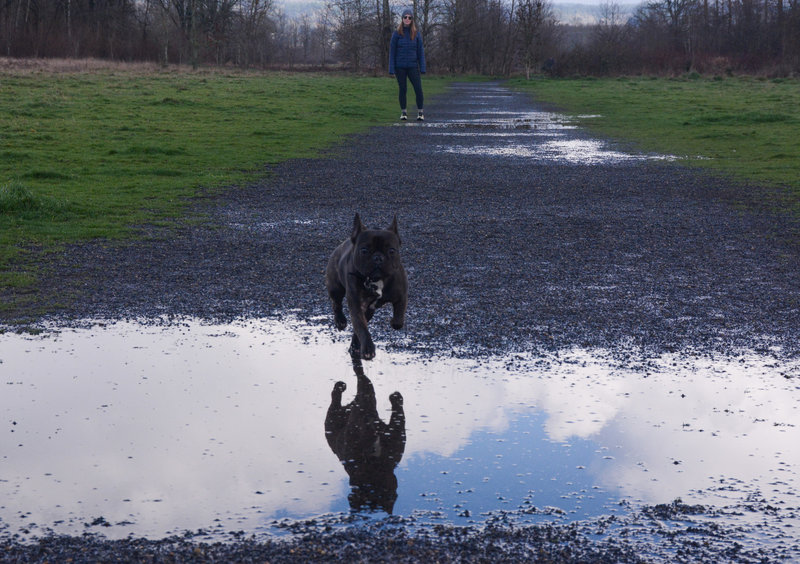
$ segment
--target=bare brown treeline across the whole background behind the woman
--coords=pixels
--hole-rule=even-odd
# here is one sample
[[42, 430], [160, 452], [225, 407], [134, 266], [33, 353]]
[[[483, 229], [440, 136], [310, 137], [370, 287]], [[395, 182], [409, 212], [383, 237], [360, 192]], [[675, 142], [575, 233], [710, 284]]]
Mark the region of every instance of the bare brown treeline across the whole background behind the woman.
[[[402, 0], [328, 0], [288, 17], [274, 0], [0, 0], [10, 57], [97, 57], [383, 72]], [[510, 75], [800, 71], [800, 0], [653, 0], [591, 25], [547, 0], [414, 0], [428, 68]]]

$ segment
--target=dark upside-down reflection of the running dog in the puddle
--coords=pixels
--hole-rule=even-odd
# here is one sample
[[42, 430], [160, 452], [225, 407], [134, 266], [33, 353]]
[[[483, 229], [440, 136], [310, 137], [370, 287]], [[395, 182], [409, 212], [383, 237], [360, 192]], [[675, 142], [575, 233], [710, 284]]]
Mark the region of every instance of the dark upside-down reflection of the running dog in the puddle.
[[356, 397], [342, 405], [347, 385], [334, 384], [325, 417], [325, 438], [350, 476], [350, 508], [392, 513], [397, 499], [394, 469], [406, 447], [403, 396], [400, 392], [389, 396], [392, 415], [389, 423], [384, 423], [378, 417], [375, 389], [360, 360], [353, 360], [353, 370], [358, 378]]

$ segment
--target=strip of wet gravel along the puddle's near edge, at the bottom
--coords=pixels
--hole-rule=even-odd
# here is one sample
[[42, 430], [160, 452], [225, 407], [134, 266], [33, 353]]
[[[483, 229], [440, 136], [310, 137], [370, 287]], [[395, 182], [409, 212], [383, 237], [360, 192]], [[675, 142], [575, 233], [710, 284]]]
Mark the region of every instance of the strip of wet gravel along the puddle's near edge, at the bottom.
[[108, 540], [50, 535], [20, 543], [0, 538], [3, 562], [541, 562], [647, 563], [796, 561], [797, 542], [753, 546], [741, 529], [729, 531], [692, 519], [701, 506], [673, 502], [646, 508], [636, 517], [592, 523], [524, 527], [492, 523], [476, 529], [388, 518], [346, 528], [301, 522], [289, 538], [257, 539], [234, 533], [227, 541], [186, 533], [158, 540]]

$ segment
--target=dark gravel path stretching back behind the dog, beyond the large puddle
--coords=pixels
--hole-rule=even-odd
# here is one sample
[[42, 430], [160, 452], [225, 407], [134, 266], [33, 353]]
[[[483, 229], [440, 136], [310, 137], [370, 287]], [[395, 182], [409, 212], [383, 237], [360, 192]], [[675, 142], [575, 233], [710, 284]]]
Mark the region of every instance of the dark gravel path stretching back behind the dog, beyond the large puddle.
[[353, 214], [396, 213], [411, 298], [403, 335], [376, 318], [384, 346], [797, 354], [800, 222], [752, 187], [592, 139], [495, 83], [426, 109], [200, 200], [199, 227], [72, 247], [43, 295], [71, 300], [62, 319], [328, 316], [322, 270]]

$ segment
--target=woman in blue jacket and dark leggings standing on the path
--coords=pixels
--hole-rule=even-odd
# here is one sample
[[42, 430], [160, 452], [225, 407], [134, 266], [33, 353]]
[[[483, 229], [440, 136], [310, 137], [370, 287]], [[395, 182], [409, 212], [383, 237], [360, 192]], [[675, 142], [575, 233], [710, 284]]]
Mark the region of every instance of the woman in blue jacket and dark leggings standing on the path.
[[402, 111], [400, 119], [403, 121], [408, 119], [406, 79], [411, 81], [417, 97], [417, 121], [425, 119], [422, 113], [423, 97], [420, 74], [425, 74], [425, 50], [422, 47], [422, 34], [417, 31], [413, 13], [406, 8], [403, 10], [400, 25], [392, 33], [392, 41], [389, 45], [389, 75], [397, 76], [397, 84], [400, 87], [400, 110]]

